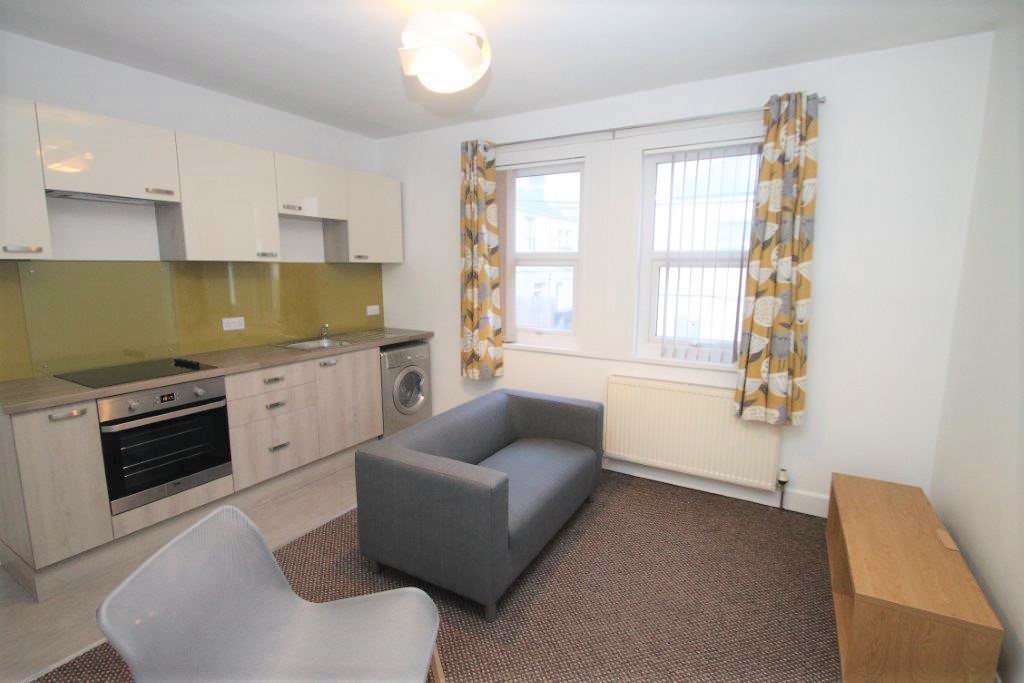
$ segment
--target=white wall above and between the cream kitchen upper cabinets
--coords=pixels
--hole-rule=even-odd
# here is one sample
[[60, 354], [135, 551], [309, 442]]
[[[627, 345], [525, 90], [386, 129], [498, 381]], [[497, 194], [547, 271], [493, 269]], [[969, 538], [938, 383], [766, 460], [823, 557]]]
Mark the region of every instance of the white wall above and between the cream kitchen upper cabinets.
[[[0, 93], [377, 170], [373, 138], [4, 31]], [[57, 258], [160, 259], [153, 207], [48, 203]], [[308, 224], [283, 217], [288, 260], [323, 258], [323, 245], [303, 239]]]

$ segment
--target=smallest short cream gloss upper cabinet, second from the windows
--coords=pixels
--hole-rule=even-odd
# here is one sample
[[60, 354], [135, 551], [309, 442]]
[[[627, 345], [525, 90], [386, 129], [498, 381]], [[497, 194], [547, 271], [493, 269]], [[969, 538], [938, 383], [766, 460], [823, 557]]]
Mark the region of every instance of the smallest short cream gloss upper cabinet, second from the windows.
[[274, 154], [278, 213], [309, 218], [348, 218], [345, 169]]

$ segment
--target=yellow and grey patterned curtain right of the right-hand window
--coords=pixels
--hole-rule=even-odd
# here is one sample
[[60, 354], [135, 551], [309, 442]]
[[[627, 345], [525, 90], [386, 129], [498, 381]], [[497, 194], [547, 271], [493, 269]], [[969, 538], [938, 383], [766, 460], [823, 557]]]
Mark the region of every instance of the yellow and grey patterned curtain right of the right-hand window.
[[816, 94], [768, 101], [735, 395], [744, 420], [804, 421], [817, 141]]

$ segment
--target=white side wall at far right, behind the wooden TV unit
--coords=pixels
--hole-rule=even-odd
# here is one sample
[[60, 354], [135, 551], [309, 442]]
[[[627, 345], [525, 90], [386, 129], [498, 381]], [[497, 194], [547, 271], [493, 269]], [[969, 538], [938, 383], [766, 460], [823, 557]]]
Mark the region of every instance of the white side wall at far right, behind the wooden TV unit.
[[932, 501], [1007, 629], [1007, 683], [1024, 681], [1022, 7], [995, 32], [932, 482]]

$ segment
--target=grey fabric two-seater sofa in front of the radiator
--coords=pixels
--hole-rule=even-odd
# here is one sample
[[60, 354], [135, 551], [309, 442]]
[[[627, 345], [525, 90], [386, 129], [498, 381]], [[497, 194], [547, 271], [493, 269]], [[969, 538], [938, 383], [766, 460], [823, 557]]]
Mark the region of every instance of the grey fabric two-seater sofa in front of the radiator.
[[355, 454], [359, 548], [479, 602], [498, 599], [590, 497], [601, 403], [500, 390]]

